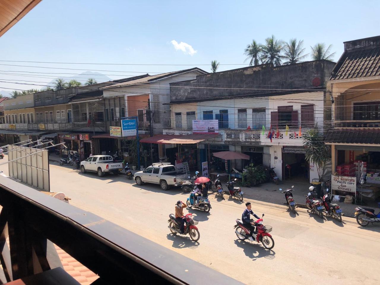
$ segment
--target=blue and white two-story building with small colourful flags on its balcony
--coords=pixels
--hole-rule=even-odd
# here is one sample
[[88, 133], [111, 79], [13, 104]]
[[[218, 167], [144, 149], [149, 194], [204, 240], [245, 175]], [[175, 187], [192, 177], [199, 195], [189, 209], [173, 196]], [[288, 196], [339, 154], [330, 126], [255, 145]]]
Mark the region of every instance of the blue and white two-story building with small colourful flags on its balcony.
[[[317, 171], [305, 161], [302, 133], [315, 124], [323, 130], [325, 86], [333, 67], [327, 60], [266, 64], [170, 84], [171, 129], [164, 133], [192, 133], [193, 119], [217, 120], [221, 140], [198, 144], [200, 162], [212, 152], [231, 150], [250, 157], [234, 161], [237, 169], [274, 165], [281, 179], [312, 180]], [[211, 168], [224, 168], [224, 161], [212, 161]]]

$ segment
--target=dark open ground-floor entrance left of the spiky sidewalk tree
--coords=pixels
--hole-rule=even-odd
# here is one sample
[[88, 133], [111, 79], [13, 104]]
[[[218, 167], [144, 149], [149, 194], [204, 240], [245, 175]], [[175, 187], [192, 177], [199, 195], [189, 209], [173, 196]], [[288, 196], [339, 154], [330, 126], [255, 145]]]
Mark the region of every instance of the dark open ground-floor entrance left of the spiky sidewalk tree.
[[283, 179], [295, 182], [309, 182], [309, 163], [305, 159], [303, 147], [283, 147]]

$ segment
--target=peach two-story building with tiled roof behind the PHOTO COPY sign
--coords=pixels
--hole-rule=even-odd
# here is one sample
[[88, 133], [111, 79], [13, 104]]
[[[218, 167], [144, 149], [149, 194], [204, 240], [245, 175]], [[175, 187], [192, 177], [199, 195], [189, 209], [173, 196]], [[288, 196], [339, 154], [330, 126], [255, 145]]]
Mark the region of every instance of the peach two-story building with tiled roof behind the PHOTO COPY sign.
[[[359, 183], [364, 177], [367, 184], [380, 184], [379, 59], [380, 36], [346, 41], [332, 70], [328, 82], [331, 94], [326, 97], [326, 106], [331, 106], [331, 128], [326, 130], [326, 141], [331, 145], [334, 179], [356, 177]], [[380, 190], [374, 189], [367, 188], [363, 196], [377, 198]], [[346, 190], [338, 192], [350, 194], [353, 188]]]

